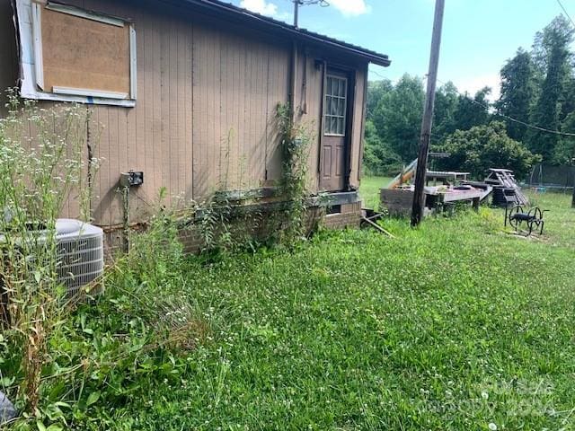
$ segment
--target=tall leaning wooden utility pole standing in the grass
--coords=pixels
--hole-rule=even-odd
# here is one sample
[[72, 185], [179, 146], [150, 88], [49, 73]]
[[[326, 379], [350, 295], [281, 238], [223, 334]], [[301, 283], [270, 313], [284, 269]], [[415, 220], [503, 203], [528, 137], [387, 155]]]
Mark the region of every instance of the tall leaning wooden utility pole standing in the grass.
[[425, 207], [425, 175], [427, 172], [429, 137], [431, 136], [431, 122], [435, 105], [435, 88], [438, 81], [439, 47], [441, 46], [441, 28], [443, 27], [443, 11], [445, 0], [436, 0], [435, 17], [433, 19], [433, 35], [431, 37], [431, 54], [429, 56], [428, 88], [421, 121], [420, 153], [417, 159], [415, 172], [415, 192], [413, 193], [413, 206], [411, 207], [411, 226], [420, 224]]

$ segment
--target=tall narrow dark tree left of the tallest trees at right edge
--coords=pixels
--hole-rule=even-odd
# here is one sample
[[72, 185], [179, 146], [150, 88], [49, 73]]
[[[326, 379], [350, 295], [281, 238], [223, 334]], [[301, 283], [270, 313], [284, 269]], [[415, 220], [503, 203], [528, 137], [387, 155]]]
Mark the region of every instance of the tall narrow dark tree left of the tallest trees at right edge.
[[[515, 57], [501, 68], [501, 95], [495, 106], [502, 115], [529, 122], [535, 103], [535, 66], [531, 54], [517, 49]], [[527, 128], [515, 121], [507, 121], [509, 137], [524, 142]]]

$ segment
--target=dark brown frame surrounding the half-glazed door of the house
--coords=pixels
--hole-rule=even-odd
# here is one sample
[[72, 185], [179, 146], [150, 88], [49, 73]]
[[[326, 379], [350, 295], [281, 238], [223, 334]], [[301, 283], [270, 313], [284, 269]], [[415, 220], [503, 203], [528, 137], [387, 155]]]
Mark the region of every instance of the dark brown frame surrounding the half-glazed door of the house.
[[348, 95], [346, 101], [346, 119], [345, 119], [345, 140], [344, 140], [344, 177], [343, 177], [343, 189], [338, 191], [348, 191], [349, 190], [349, 177], [351, 174], [351, 144], [352, 133], [353, 133], [353, 119], [355, 116], [355, 96], [356, 96], [356, 73], [355, 67], [343, 66], [337, 63], [328, 62], [323, 60], [323, 86], [322, 86], [322, 118], [320, 120], [320, 136], [319, 136], [319, 157], [317, 172], [319, 174], [318, 178], [318, 189], [321, 189], [322, 174], [323, 174], [323, 136], [325, 128], [325, 94], [327, 92], [327, 76], [344, 75], [348, 80]]

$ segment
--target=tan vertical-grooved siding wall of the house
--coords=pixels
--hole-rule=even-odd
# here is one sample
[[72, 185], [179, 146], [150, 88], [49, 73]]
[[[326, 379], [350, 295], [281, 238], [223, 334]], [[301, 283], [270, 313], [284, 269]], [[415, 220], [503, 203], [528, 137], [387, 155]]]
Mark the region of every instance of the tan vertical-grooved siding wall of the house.
[[[12, 10], [9, 2], [0, 3], [0, 87], [4, 89], [15, 82], [17, 56], [15, 43], [10, 43], [14, 40]], [[132, 223], [146, 219], [163, 187], [171, 196], [199, 201], [217, 189], [256, 189], [279, 180], [275, 115], [278, 103], [289, 100], [290, 40], [150, 0], [66, 3], [133, 20], [137, 33], [136, 107], [90, 107], [95, 153], [103, 159], [94, 181], [96, 224], [122, 223], [120, 172], [144, 172], [144, 184], [130, 191]], [[317, 48], [299, 47], [297, 57], [296, 119], [304, 121], [314, 136], [309, 156], [311, 192], [318, 191], [320, 178], [323, 70], [315, 58], [322, 55]], [[12, 72], [4, 66], [5, 60], [13, 65]], [[357, 187], [367, 64], [352, 66], [356, 106], [349, 183]], [[66, 208], [64, 216], [77, 216], [74, 202]]]

